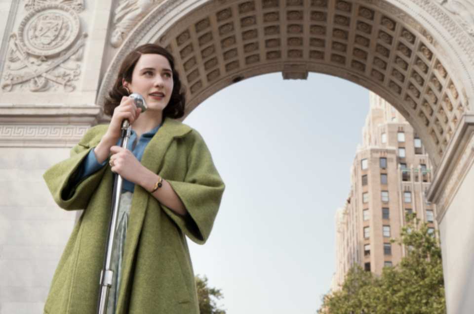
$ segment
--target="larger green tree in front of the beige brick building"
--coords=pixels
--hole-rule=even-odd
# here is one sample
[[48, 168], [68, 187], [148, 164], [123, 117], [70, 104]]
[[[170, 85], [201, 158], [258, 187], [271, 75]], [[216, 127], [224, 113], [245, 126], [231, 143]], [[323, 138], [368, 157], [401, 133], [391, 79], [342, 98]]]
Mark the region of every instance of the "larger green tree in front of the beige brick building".
[[441, 248], [428, 224], [407, 215], [398, 242], [407, 256], [380, 277], [360, 265], [349, 269], [341, 289], [322, 297], [318, 314], [446, 314]]

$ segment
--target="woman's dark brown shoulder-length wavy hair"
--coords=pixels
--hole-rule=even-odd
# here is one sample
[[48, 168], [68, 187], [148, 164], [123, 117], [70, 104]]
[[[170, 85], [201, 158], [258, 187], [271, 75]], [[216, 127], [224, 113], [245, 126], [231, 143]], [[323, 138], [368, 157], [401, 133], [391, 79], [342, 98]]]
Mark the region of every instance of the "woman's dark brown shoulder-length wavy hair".
[[122, 97], [130, 94], [128, 89], [122, 85], [122, 79], [128, 83], [132, 82], [133, 69], [135, 69], [135, 65], [142, 54], [160, 54], [168, 59], [171, 71], [173, 72], [173, 91], [171, 92], [168, 105], [163, 109], [163, 118], [181, 118], [184, 115], [184, 106], [186, 104], [186, 88], [179, 80], [179, 74], [174, 67], [174, 58], [171, 53], [155, 44], [138, 46], [123, 59], [118, 71], [117, 80], [115, 80], [112, 90], [109, 91], [109, 97], [106, 97], [104, 101], [105, 114], [112, 117], [114, 109], [120, 104]]

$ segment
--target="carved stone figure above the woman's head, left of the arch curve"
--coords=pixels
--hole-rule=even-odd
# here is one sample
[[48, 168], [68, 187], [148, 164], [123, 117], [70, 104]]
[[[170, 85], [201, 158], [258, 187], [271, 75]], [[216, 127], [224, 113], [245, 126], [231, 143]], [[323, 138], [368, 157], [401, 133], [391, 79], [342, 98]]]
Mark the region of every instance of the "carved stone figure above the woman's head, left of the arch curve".
[[130, 30], [162, 0], [123, 0], [115, 10], [114, 32], [110, 43], [114, 47], [122, 44]]

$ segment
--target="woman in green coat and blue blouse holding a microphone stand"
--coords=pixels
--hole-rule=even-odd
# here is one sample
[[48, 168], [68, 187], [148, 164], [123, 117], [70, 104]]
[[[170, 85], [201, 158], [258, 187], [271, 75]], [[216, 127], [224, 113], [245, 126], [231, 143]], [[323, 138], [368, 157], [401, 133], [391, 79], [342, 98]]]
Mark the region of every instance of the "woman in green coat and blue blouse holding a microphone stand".
[[[141, 94], [141, 112], [127, 95]], [[56, 203], [84, 209], [54, 274], [44, 313], [96, 312], [114, 174], [124, 178], [114, 252], [117, 291], [107, 314], [198, 314], [185, 235], [204, 243], [224, 183], [211, 155], [184, 114], [184, 92], [171, 54], [142, 45], [122, 62], [104, 110], [109, 126], [91, 128], [71, 158], [44, 179]], [[117, 146], [123, 119], [131, 123], [130, 150]]]

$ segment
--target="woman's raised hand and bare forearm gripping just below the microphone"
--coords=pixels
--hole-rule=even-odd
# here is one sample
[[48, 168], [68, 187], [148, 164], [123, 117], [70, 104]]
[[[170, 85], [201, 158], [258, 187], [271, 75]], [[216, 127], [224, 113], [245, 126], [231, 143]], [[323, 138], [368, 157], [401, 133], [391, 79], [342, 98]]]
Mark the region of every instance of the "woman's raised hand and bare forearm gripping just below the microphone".
[[107, 130], [107, 133], [94, 148], [95, 158], [100, 164], [109, 157], [109, 153], [111, 152], [110, 148], [117, 145], [117, 142], [120, 139], [122, 121], [128, 119], [129, 123], [133, 124], [133, 122], [140, 116], [141, 112], [142, 109], [137, 109], [132, 98], [126, 96], [122, 97], [120, 104], [114, 109], [109, 130]]

